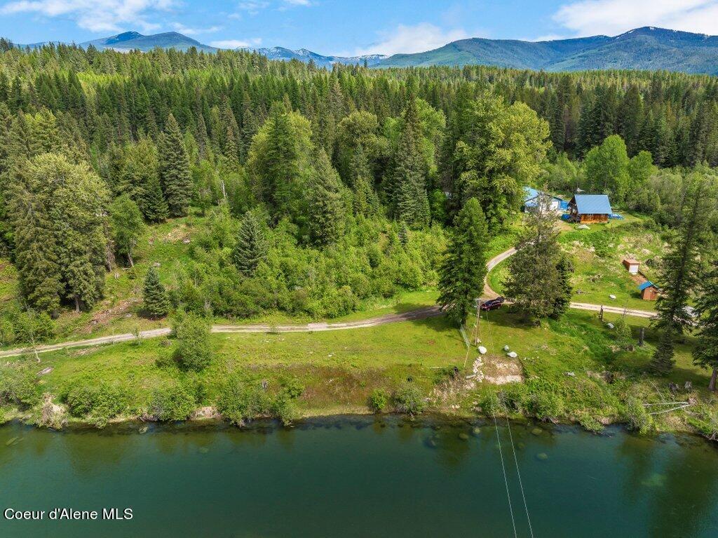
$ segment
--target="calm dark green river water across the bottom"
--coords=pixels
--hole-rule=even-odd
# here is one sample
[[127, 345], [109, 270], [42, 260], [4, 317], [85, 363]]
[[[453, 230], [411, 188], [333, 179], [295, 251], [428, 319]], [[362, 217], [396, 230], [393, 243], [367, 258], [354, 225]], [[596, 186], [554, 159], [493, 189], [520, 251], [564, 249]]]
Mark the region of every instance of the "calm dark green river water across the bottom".
[[[401, 425], [401, 426], [400, 426]], [[545, 427], [544, 427], [545, 428]], [[0, 427], [0, 537], [512, 537], [492, 425], [336, 419], [293, 430]], [[718, 450], [692, 437], [512, 425], [536, 537], [718, 537]], [[500, 428], [519, 537], [528, 524]], [[17, 437], [10, 445], [7, 442]]]

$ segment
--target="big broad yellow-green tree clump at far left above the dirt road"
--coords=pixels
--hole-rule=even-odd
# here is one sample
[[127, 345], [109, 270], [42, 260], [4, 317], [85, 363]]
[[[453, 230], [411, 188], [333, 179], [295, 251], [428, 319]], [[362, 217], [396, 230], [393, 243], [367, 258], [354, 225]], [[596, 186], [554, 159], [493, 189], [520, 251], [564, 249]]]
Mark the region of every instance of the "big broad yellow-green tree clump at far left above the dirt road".
[[104, 182], [60, 154], [27, 161], [14, 177], [11, 208], [21, 287], [39, 310], [60, 300], [91, 308], [102, 294], [107, 238]]

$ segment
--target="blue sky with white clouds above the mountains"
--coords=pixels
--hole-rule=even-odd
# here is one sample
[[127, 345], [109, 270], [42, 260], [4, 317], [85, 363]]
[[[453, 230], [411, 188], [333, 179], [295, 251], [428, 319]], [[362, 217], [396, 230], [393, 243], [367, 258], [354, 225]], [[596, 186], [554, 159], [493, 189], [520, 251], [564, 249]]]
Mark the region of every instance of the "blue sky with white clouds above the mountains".
[[19, 44], [175, 31], [215, 47], [391, 55], [642, 26], [718, 34], [718, 0], [0, 0], [0, 36]]

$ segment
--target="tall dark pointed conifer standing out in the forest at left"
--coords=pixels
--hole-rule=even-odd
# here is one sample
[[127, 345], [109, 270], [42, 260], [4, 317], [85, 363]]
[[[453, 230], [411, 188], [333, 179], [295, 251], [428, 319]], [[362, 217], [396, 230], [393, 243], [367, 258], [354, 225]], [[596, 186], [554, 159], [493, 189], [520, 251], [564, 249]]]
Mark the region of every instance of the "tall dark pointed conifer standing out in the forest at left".
[[190, 159], [177, 120], [170, 113], [159, 144], [159, 182], [167, 200], [169, 214], [180, 217], [187, 214], [192, 200]]

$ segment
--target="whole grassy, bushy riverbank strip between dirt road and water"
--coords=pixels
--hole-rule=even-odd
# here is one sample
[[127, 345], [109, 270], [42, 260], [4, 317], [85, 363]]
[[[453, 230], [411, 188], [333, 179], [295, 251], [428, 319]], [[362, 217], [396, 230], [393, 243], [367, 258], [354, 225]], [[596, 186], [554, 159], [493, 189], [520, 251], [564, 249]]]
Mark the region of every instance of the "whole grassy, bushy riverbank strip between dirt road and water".
[[[350, 331], [211, 335], [204, 320], [185, 316], [166, 340], [0, 363], [0, 422], [60, 428], [223, 419], [245, 426], [265, 418], [290, 424], [335, 414], [439, 414], [528, 417], [594, 432], [622, 423], [715, 440], [718, 404], [705, 388], [707, 373], [691, 364], [690, 340], [678, 349], [674, 374], [648, 376], [653, 330], [645, 330], [643, 348], [631, 349], [605, 323], [571, 312], [527, 327], [497, 312], [484, 325], [492, 335], [480, 355], [473, 347], [467, 353], [441, 317]], [[503, 351], [507, 342], [516, 358]]]

